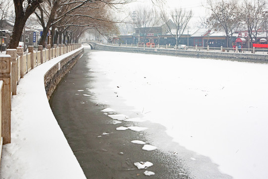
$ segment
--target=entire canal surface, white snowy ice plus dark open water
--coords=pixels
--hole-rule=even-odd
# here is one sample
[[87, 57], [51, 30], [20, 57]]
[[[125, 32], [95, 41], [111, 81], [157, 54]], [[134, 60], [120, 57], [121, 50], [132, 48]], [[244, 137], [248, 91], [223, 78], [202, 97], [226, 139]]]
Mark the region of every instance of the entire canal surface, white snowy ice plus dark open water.
[[[113, 140], [124, 140], [115, 146], [120, 150], [106, 156], [113, 160], [105, 163], [99, 159], [96, 173], [101, 173], [104, 163], [120, 163], [124, 170], [112, 169], [115, 178], [147, 178], [145, 174], [165, 179], [268, 176], [267, 65], [90, 50], [80, 61], [65, 77], [51, 104], [62, 128], [76, 126], [77, 121], [85, 127], [80, 114], [93, 120], [93, 128], [100, 128], [78, 136], [76, 129], [63, 129], [76, 157], [85, 158], [79, 151], [88, 146], [96, 146], [92, 149], [95, 157], [105, 155]], [[60, 95], [64, 95], [61, 100], [65, 98], [65, 104], [57, 103]], [[56, 107], [60, 105], [61, 109]], [[77, 108], [83, 111], [72, 116]], [[71, 111], [64, 114], [64, 109]], [[76, 121], [66, 121], [70, 116]], [[84, 140], [87, 147], [74, 149], [73, 138]], [[106, 148], [98, 148], [105, 142]], [[92, 156], [87, 159], [88, 163], [92, 160]], [[141, 161], [148, 163], [138, 163]], [[79, 163], [85, 172], [85, 162]], [[138, 169], [144, 166], [148, 169]], [[90, 166], [87, 170], [94, 173]]]

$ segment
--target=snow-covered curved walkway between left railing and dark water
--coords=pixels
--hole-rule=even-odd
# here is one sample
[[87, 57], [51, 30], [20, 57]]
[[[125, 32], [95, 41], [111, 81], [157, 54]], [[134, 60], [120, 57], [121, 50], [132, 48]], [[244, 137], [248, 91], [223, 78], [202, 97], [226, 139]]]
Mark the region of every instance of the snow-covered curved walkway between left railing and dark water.
[[11, 144], [3, 146], [0, 179], [85, 179], [48, 102], [44, 75], [63, 58], [31, 70], [12, 96]]

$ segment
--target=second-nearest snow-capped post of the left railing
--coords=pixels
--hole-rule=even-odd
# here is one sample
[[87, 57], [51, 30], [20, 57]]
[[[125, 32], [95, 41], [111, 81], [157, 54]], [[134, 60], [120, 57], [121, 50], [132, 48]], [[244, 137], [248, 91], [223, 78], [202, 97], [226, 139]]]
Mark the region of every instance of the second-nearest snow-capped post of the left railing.
[[17, 63], [17, 50], [16, 49], [7, 49], [6, 55], [11, 57], [11, 91], [12, 95], [17, 93], [17, 78], [18, 78], [18, 63]]

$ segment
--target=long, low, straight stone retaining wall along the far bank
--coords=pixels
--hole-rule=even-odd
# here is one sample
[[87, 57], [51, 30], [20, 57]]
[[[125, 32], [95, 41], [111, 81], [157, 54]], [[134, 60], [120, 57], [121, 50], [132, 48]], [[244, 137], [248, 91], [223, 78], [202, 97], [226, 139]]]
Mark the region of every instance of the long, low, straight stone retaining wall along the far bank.
[[254, 63], [268, 63], [268, 55], [262, 55], [262, 54], [120, 47], [120, 46], [109, 46], [103, 44], [96, 44], [95, 48], [97, 50], [108, 50], [108, 51], [119, 51], [119, 52], [133, 52], [133, 53], [146, 53], [146, 54], [158, 54], [158, 55], [184, 56], [194, 58], [213, 58], [213, 59], [224, 59], [224, 60], [254, 62]]

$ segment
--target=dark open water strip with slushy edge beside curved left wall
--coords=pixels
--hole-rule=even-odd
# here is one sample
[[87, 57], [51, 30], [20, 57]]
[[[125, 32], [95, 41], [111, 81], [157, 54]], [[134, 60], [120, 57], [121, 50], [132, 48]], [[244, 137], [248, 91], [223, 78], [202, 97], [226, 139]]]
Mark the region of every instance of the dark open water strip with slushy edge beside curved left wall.
[[[163, 150], [144, 151], [141, 145], [133, 144], [132, 140], [144, 141], [143, 132], [126, 130], [117, 131], [116, 125], [111, 124], [111, 118], [101, 112], [109, 107], [102, 104], [96, 105], [93, 100], [94, 94], [87, 91], [91, 96], [85, 98], [78, 90], [92, 89], [90, 82], [96, 80], [90, 72], [90, 61], [88, 54], [91, 51], [85, 49], [84, 55], [77, 64], [64, 77], [58, 88], [50, 99], [53, 113], [62, 128], [67, 141], [82, 167], [87, 179], [197, 179], [198, 175], [205, 176], [203, 179], [230, 179], [229, 176], [221, 174], [217, 166], [210, 159], [197, 156], [189, 152], [165, 134], [165, 129], [158, 124], [150, 125], [157, 128], [157, 135], [165, 136], [159, 141], [170, 152]], [[105, 88], [105, 87], [104, 87]], [[86, 99], [86, 100], [85, 100]], [[130, 122], [131, 124], [131, 122]], [[103, 133], [109, 135], [103, 135]], [[146, 136], [157, 139], [157, 136]], [[101, 136], [101, 137], [100, 137]], [[181, 151], [174, 155], [172, 151]], [[187, 151], [187, 152], [186, 152]], [[206, 163], [187, 163], [184, 155], [189, 153], [195, 158], [200, 158]], [[138, 170], [134, 162], [153, 163], [148, 169]], [[194, 168], [202, 171], [193, 172]], [[153, 176], [145, 176], [145, 171], [154, 172]]]

